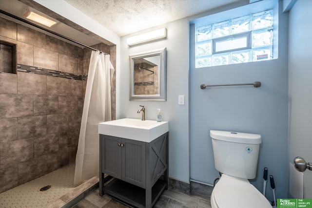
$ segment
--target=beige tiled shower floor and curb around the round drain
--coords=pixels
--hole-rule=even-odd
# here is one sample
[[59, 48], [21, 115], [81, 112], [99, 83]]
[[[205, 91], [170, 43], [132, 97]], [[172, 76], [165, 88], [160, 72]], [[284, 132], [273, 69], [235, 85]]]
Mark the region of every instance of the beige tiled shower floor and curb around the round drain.
[[[98, 176], [73, 185], [75, 165], [47, 173], [13, 189], [0, 193], [1, 208], [71, 208], [98, 189]], [[51, 186], [40, 191], [40, 188]]]

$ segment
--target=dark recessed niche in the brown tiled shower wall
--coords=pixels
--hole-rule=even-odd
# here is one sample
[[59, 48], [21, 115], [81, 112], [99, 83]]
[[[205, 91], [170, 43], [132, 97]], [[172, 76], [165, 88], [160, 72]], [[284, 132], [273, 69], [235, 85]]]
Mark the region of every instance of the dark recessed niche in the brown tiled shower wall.
[[17, 45], [0, 40], [0, 73], [17, 73]]

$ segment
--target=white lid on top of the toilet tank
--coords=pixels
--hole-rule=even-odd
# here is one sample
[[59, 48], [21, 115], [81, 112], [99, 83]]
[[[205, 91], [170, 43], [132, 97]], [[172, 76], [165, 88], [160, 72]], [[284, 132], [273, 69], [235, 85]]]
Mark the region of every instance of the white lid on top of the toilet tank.
[[261, 144], [260, 134], [210, 130], [210, 136], [211, 138], [228, 142]]

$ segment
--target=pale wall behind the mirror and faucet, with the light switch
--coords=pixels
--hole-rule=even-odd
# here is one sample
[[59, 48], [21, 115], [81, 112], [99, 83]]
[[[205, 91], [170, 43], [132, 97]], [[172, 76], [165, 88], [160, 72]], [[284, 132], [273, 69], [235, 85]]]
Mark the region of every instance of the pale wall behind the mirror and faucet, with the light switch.
[[[162, 119], [169, 121], [169, 176], [189, 183], [189, 22], [184, 18], [160, 27], [167, 28], [166, 39], [129, 47], [126, 39], [135, 34], [121, 37], [119, 118], [139, 119], [137, 110], [139, 105], [144, 105], [145, 118], [156, 120], [160, 108]], [[129, 55], [164, 47], [167, 48], [167, 101], [129, 101]], [[178, 105], [178, 95], [185, 95], [185, 105]]]

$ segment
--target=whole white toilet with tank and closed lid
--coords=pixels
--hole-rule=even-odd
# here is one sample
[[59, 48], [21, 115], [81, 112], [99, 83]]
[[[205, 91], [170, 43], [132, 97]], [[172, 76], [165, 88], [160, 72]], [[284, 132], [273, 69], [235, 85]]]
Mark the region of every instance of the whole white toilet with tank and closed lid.
[[210, 131], [215, 169], [222, 173], [211, 194], [212, 208], [272, 208], [248, 179], [257, 170], [261, 135]]

